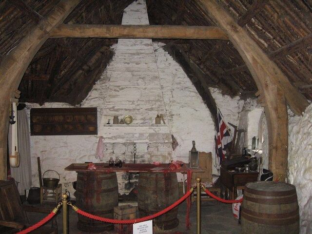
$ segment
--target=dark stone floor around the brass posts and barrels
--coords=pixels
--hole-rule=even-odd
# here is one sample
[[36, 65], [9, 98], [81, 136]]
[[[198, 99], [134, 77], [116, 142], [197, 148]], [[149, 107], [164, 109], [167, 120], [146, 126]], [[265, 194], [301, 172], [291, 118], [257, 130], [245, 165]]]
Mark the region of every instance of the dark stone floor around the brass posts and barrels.
[[[201, 204], [201, 233], [202, 234], [239, 234], [241, 227], [237, 219], [232, 215], [232, 206], [217, 201], [203, 201]], [[69, 233], [70, 234], [87, 234], [77, 229], [77, 215], [72, 209], [69, 209]], [[170, 231], [156, 230], [154, 234], [196, 234], [196, 203], [191, 207], [191, 230], [185, 228], [186, 202], [179, 205], [178, 219], [179, 225]], [[44, 217], [38, 213], [27, 213], [31, 223], [35, 223]], [[58, 214], [59, 234], [63, 233], [62, 214]], [[49, 225], [49, 224], [47, 224]], [[114, 232], [104, 232], [102, 234], [113, 234]]]

